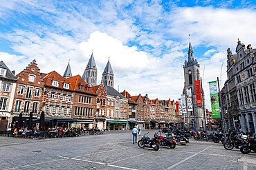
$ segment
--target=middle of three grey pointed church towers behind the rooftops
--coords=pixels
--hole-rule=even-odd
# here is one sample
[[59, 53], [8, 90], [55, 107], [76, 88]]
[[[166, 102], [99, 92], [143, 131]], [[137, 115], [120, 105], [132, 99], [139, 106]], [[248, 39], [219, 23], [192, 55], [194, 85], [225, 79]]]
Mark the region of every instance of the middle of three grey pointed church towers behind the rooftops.
[[82, 75], [82, 79], [89, 84], [91, 87], [97, 85], [97, 67], [94, 60], [93, 53], [91, 53], [91, 57], [89, 62], [84, 70], [84, 74]]

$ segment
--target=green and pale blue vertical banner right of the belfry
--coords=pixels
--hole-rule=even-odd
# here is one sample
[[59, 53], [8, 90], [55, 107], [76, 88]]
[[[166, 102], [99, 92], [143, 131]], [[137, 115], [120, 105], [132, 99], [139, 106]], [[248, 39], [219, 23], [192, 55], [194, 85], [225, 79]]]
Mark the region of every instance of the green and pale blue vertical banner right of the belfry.
[[217, 81], [209, 82], [210, 87], [210, 103], [212, 106], [212, 118], [220, 118], [221, 110], [219, 109], [219, 96], [217, 90]]

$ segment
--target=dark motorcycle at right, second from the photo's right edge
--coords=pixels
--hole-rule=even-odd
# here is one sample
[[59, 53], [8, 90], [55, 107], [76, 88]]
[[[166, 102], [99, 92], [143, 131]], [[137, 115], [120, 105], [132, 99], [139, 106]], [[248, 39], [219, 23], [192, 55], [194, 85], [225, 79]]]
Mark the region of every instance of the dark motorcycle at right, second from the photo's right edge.
[[223, 147], [227, 150], [231, 150], [234, 147], [239, 149], [241, 145], [246, 144], [246, 142], [246, 138], [243, 138], [241, 135], [238, 136], [237, 134], [232, 134], [230, 135], [228, 142], [223, 144]]

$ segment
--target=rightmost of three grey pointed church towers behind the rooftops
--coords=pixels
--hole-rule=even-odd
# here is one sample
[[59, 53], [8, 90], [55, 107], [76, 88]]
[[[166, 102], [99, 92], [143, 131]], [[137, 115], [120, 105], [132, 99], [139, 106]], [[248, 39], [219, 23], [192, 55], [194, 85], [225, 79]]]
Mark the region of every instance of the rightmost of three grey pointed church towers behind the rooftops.
[[107, 62], [107, 65], [102, 74], [102, 82], [103, 85], [113, 87], [113, 70], [109, 61]]

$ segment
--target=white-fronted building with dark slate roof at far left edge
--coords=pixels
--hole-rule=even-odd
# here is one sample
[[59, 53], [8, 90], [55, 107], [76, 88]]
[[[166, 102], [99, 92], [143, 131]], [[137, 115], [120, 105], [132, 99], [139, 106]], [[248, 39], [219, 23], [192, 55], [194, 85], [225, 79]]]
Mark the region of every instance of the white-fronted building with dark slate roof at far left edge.
[[17, 77], [3, 61], [0, 61], [0, 131], [12, 125], [12, 103], [15, 96]]

